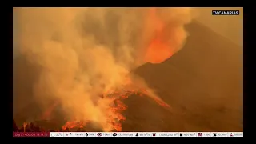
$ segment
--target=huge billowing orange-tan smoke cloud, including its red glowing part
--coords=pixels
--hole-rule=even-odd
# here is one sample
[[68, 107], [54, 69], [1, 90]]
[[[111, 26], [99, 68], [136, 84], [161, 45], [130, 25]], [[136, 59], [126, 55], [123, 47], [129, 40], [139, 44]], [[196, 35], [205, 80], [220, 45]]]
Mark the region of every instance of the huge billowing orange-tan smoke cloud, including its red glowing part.
[[[111, 130], [99, 97], [122, 88], [130, 70], [182, 48], [190, 8], [14, 8], [20, 54], [40, 66], [34, 98], [57, 101], [69, 118]], [[112, 114], [114, 115], [114, 113]]]

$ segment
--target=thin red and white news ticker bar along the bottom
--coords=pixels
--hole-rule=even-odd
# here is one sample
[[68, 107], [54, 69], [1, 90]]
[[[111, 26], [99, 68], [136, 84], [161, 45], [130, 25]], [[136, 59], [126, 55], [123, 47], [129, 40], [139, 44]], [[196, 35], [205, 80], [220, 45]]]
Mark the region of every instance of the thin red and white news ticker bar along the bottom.
[[243, 132], [14, 132], [13, 137], [243, 137]]

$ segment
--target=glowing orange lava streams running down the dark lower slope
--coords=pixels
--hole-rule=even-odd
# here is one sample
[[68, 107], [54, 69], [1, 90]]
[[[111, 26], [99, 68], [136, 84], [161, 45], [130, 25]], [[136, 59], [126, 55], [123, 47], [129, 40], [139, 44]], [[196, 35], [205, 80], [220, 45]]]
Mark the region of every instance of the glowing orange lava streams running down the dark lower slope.
[[[141, 90], [114, 90], [111, 91], [108, 94], [103, 94], [102, 98], [108, 98], [110, 99], [111, 106], [108, 109], [107, 113], [107, 122], [111, 125], [111, 129], [114, 131], [122, 131], [122, 121], [126, 120], [126, 117], [122, 115], [122, 112], [126, 110], [128, 107], [122, 102], [123, 99], [128, 98], [130, 95], [138, 95], [138, 96], [148, 96], [146, 95], [146, 90], [141, 89]], [[153, 97], [151, 97], [153, 98]], [[162, 99], [160, 98], [153, 98], [155, 102], [158, 103], [158, 105], [165, 107], [165, 108], [170, 108], [166, 102], [163, 102]], [[49, 110], [46, 110], [46, 113], [44, 116], [50, 116], [50, 112], [58, 106], [57, 102], [54, 103], [53, 106], [50, 106]], [[42, 117], [46, 118], [46, 117]], [[54, 130], [54, 131], [70, 131], [74, 129], [85, 129], [86, 130], [86, 124], [90, 121], [79, 121], [78, 119], [74, 118], [73, 120], [67, 121], [60, 130]], [[23, 124], [23, 131], [26, 131], [26, 127], [29, 127], [30, 124], [24, 122]], [[38, 130], [38, 129], [37, 129]], [[44, 130], [44, 129], [41, 129]], [[111, 131], [112, 131], [111, 130]], [[50, 130], [46, 130], [50, 131]], [[53, 130], [51, 130], [53, 131]]]

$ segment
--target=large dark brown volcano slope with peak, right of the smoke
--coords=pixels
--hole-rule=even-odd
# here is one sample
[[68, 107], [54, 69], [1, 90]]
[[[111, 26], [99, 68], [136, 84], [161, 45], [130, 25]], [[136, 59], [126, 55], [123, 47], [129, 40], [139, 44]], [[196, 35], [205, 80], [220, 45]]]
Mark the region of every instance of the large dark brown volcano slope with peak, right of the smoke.
[[154, 118], [163, 117], [158, 130], [242, 130], [242, 47], [199, 22], [186, 29], [190, 36], [182, 50], [135, 70], [174, 109], [168, 114], [148, 107]]

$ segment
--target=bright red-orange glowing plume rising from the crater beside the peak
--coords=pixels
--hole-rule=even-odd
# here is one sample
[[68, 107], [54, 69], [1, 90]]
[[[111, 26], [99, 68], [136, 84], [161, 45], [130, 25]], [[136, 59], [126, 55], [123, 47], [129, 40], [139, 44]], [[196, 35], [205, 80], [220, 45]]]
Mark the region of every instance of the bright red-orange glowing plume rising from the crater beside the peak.
[[[163, 15], [166, 15], [164, 10], [167, 9], [150, 8], [147, 13], [145, 22], [146, 31], [148, 29], [153, 30], [153, 34], [152, 38], [150, 38], [149, 45], [146, 46], [144, 62], [160, 63], [165, 61], [182, 47], [186, 39], [186, 31], [183, 25], [178, 25], [178, 19], [171, 18], [171, 21], [166, 22], [166, 19], [162, 18]], [[181, 14], [188, 12], [186, 9], [178, 11]]]

